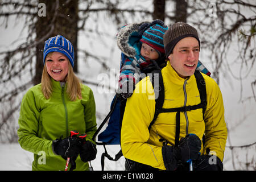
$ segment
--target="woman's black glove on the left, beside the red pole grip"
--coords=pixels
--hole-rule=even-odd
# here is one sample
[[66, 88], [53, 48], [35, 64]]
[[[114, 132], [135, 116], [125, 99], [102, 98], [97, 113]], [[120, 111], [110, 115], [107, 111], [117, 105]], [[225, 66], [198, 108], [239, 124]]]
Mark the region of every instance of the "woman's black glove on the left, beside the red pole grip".
[[77, 157], [79, 154], [79, 139], [77, 137], [67, 137], [56, 139], [52, 142], [52, 150], [56, 155], [63, 158]]

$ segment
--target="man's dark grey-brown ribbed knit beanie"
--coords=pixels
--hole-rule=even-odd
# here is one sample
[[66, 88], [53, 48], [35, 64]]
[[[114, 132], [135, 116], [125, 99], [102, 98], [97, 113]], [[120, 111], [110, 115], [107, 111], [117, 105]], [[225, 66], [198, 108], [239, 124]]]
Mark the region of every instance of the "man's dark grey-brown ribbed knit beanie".
[[200, 47], [200, 40], [197, 35], [196, 28], [184, 22], [177, 22], [172, 24], [172, 26], [168, 28], [168, 30], [166, 31], [163, 37], [166, 57], [168, 57], [171, 54], [175, 45], [181, 39], [186, 38], [188, 36], [192, 36], [193, 38], [196, 38], [199, 42], [199, 47]]

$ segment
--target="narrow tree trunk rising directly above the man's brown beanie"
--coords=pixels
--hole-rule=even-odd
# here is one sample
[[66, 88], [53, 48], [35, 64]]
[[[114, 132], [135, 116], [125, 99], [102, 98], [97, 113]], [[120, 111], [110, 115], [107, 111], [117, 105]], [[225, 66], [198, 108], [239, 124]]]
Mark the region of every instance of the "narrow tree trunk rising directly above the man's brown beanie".
[[176, 0], [176, 9], [175, 9], [176, 20], [175, 20], [175, 22], [187, 23], [187, 1], [186, 0]]

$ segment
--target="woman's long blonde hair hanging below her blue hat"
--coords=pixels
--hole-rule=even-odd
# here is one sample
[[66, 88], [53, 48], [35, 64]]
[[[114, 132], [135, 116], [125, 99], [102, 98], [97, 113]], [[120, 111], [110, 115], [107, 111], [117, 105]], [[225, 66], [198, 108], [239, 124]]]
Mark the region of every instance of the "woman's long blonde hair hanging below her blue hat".
[[[51, 56], [51, 52], [48, 53], [47, 57]], [[68, 75], [65, 78], [65, 84], [67, 84], [67, 93], [69, 96], [69, 100], [76, 101], [77, 98], [81, 99], [81, 85], [79, 78], [76, 77], [73, 72], [73, 68], [71, 63], [68, 61]], [[42, 80], [41, 80], [41, 90], [46, 99], [49, 99], [52, 94], [52, 81], [51, 76], [49, 76], [46, 68], [46, 64], [44, 64]]]

